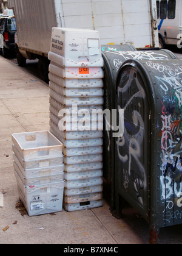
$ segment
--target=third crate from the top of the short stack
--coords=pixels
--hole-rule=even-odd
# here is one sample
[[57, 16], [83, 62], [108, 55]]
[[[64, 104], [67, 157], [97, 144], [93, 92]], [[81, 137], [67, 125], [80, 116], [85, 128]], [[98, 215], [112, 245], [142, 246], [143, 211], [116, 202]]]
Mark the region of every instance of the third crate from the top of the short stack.
[[32, 177], [43, 177], [43, 176], [52, 176], [56, 174], [60, 174], [64, 172], [64, 164], [59, 166], [49, 166], [44, 168], [33, 168], [33, 169], [24, 169], [21, 166], [21, 163], [19, 162], [18, 158], [13, 154], [13, 160], [15, 161], [16, 165], [20, 169], [22, 176], [29, 179]]

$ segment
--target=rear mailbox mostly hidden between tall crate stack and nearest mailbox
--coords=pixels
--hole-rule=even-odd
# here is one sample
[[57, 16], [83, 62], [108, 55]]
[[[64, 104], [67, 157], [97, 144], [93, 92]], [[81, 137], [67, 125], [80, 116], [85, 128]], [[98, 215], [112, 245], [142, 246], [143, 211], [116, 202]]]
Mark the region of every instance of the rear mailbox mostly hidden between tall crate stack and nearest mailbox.
[[[116, 77], [118, 71], [126, 60], [169, 60], [177, 59], [173, 52], [166, 49], [160, 51], [136, 51], [131, 44], [103, 45], [104, 59], [104, 110], [110, 111], [113, 118], [113, 111], [116, 110]], [[120, 105], [120, 104], [119, 104]], [[114, 112], [115, 113], [115, 112]], [[113, 126], [106, 130], [110, 122], [104, 118], [104, 179], [111, 181], [111, 210], [115, 210], [115, 130]], [[115, 121], [113, 122], [115, 123]]]

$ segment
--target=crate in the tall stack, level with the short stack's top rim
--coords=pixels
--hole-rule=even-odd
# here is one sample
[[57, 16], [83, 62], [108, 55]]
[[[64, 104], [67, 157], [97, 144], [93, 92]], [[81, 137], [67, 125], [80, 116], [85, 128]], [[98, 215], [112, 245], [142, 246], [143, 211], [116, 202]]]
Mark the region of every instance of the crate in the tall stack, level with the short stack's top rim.
[[61, 136], [64, 140], [78, 140], [78, 139], [87, 139], [87, 138], [102, 138], [103, 132], [102, 131], [76, 131], [76, 132], [66, 132], [59, 130], [58, 126], [56, 126], [53, 121], [50, 120], [50, 127], [52, 127], [53, 130], [55, 130], [57, 133], [59, 133], [59, 136]]

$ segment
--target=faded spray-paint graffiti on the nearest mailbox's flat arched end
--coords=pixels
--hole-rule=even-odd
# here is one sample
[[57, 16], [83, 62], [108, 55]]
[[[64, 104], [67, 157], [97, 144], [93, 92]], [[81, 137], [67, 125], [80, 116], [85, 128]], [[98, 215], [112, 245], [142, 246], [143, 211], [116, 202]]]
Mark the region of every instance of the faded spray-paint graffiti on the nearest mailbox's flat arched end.
[[[146, 97], [143, 87], [135, 76], [135, 73], [136, 70], [131, 69], [130, 76], [127, 78], [124, 87], [118, 87], [118, 98], [120, 98], [120, 94], [123, 95], [123, 93], [127, 92], [131, 87], [131, 82], [133, 81], [133, 77], [135, 77], [137, 90], [136, 93], [133, 93], [133, 95], [130, 96], [126, 105], [123, 106], [124, 110], [130, 106], [134, 98], [144, 99]], [[123, 85], [122, 81], [121, 85]], [[118, 108], [121, 108], [120, 105]], [[125, 120], [124, 122], [124, 135], [118, 137], [118, 140], [116, 141], [118, 158], [125, 166], [123, 167], [123, 187], [127, 192], [128, 188], [132, 187], [132, 190], [135, 191], [136, 198], [141, 205], [144, 204], [143, 195], [144, 191], [147, 189], [146, 173], [143, 163], [140, 160], [140, 157], [143, 154], [141, 148], [143, 148], [144, 143], [144, 132], [143, 118], [138, 110], [133, 110], [132, 120]], [[133, 163], [136, 163], [136, 165], [133, 165]]]

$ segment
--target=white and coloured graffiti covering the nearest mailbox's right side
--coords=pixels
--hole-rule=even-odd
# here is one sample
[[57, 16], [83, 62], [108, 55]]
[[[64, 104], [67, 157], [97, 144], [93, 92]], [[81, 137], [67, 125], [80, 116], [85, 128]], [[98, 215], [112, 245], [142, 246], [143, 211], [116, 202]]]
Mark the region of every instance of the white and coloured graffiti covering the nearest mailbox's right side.
[[164, 94], [161, 99], [160, 191], [164, 223], [170, 224], [175, 219], [182, 219], [182, 210], [175, 210], [180, 205], [182, 191], [182, 66], [152, 61], [147, 62], [147, 66], [158, 71], [155, 79], [163, 92], [161, 95]]

